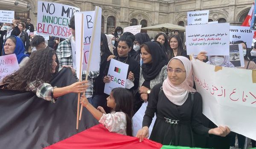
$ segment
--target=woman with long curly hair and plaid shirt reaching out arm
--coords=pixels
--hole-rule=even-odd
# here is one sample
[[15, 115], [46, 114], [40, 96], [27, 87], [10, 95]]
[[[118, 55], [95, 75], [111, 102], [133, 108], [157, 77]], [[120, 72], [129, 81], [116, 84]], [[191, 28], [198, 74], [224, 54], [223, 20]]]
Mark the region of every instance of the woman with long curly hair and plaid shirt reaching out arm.
[[65, 87], [53, 87], [49, 81], [58, 72], [58, 59], [53, 49], [33, 52], [26, 66], [3, 78], [0, 88], [21, 92], [34, 92], [38, 97], [55, 103], [57, 97], [68, 93], [85, 92], [87, 81], [81, 81]]

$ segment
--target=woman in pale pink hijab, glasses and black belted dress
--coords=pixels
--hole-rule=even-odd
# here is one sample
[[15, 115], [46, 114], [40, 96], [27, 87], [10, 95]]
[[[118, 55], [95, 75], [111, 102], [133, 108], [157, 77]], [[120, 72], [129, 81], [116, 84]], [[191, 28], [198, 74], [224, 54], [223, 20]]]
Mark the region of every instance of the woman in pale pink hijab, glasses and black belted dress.
[[177, 56], [167, 66], [167, 79], [151, 90], [152, 95], [149, 96], [143, 117], [143, 128], [137, 132], [137, 138], [142, 141], [148, 137], [148, 127], [154, 113], [157, 119], [150, 140], [163, 145], [194, 147], [193, 132], [205, 136], [229, 134], [230, 129], [227, 126], [209, 129], [202, 125], [202, 98], [193, 89], [190, 60]]

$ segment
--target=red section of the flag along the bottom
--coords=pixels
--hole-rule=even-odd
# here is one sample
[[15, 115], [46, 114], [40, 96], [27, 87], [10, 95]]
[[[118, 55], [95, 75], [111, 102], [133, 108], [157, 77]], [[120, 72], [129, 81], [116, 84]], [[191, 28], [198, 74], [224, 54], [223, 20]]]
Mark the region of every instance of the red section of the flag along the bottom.
[[91, 127], [44, 149], [160, 149], [154, 141], [109, 132], [102, 124]]

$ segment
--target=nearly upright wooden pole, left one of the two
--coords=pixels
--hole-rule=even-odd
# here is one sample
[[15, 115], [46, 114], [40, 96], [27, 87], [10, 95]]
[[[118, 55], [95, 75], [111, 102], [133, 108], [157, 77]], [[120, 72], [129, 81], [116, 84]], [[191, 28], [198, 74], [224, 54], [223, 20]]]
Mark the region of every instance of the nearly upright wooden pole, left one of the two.
[[[82, 23], [81, 23], [81, 48], [80, 48], [80, 68], [79, 68], [79, 81], [82, 80], [82, 57], [83, 57], [83, 45], [84, 45], [84, 40], [83, 40], [83, 35], [84, 35], [84, 14], [82, 14]], [[80, 106], [80, 94], [78, 93], [78, 99], [77, 99], [77, 113], [76, 113], [76, 129], [78, 129], [78, 124], [79, 124], [79, 106]], [[82, 107], [82, 106], [81, 106]]]

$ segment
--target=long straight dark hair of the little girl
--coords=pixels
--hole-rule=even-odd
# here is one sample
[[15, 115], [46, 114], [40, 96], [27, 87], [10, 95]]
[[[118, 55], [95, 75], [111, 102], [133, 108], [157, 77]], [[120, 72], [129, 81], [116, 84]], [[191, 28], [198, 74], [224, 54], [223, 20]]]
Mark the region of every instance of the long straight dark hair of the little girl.
[[126, 135], [132, 136], [132, 114], [133, 100], [132, 93], [125, 88], [115, 88], [111, 91], [116, 101], [115, 112], [124, 112], [126, 115]]

